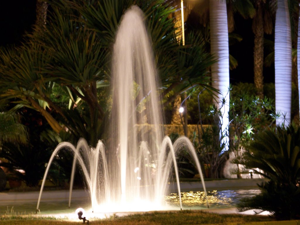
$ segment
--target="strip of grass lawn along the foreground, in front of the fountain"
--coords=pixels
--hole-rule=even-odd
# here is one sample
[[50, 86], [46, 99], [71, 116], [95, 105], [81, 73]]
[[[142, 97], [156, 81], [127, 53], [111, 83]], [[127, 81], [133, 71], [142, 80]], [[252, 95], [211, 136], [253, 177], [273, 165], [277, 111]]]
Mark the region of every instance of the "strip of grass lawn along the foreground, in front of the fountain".
[[[188, 224], [229, 224], [258, 221], [273, 221], [274, 218], [259, 215], [236, 215], [236, 214], [216, 214], [203, 211], [176, 211], [176, 212], [145, 212], [128, 216], [112, 216], [106, 219], [90, 219], [90, 224], [101, 225], [188, 225]], [[3, 215], [0, 217], [1, 225], [75, 225], [82, 224], [82, 221], [68, 221], [56, 218], [41, 218], [31, 216]], [[85, 223], [86, 224], [86, 223]]]

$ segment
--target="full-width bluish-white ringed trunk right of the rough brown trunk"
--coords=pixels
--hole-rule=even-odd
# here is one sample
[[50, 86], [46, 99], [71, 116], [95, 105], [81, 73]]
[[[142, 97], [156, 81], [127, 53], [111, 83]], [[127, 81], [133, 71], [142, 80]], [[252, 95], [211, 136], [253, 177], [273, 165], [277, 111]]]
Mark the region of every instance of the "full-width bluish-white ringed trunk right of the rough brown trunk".
[[292, 40], [288, 0], [278, 0], [275, 20], [275, 109], [276, 125], [291, 122]]

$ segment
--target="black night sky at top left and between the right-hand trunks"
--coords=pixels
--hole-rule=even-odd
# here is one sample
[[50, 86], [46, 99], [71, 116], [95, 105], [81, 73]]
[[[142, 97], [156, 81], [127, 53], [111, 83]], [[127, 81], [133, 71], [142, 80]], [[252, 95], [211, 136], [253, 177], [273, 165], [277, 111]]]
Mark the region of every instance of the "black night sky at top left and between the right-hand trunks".
[[[36, 0], [14, 0], [0, 3], [0, 46], [18, 44], [22, 41], [22, 34], [30, 31], [35, 22]], [[243, 40], [229, 46], [230, 54], [238, 60], [238, 67], [230, 71], [230, 82], [253, 83], [253, 32], [251, 19], [235, 19], [235, 33]], [[274, 66], [273, 66], [274, 67]], [[274, 68], [264, 67], [264, 82], [274, 82]]]

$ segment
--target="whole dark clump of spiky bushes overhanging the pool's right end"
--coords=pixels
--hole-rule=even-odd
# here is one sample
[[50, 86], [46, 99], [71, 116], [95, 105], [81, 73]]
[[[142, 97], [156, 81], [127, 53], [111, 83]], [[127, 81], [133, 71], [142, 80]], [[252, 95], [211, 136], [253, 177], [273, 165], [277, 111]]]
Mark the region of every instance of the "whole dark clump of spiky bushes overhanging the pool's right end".
[[259, 168], [254, 169], [254, 173], [270, 181], [259, 185], [261, 194], [242, 200], [239, 210], [268, 210], [279, 219], [299, 219], [300, 129], [277, 126], [276, 130], [259, 132], [253, 139], [244, 146], [247, 151], [236, 163], [245, 166], [244, 172]]

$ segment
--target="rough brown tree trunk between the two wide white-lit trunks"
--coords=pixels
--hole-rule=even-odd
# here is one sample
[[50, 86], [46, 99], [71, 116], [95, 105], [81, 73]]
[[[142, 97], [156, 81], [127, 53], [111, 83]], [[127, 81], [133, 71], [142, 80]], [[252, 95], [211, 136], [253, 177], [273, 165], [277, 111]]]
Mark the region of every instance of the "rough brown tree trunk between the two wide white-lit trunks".
[[263, 17], [262, 4], [259, 1], [256, 5], [256, 15], [253, 18], [252, 30], [254, 33], [254, 84], [259, 98], [263, 99]]

